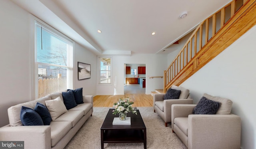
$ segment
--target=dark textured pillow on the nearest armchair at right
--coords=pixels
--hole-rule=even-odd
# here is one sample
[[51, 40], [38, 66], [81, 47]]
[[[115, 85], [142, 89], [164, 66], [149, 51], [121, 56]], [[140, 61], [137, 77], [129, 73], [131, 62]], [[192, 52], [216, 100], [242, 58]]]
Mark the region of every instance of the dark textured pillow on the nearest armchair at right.
[[202, 97], [194, 107], [192, 114], [216, 114], [220, 107], [220, 102]]

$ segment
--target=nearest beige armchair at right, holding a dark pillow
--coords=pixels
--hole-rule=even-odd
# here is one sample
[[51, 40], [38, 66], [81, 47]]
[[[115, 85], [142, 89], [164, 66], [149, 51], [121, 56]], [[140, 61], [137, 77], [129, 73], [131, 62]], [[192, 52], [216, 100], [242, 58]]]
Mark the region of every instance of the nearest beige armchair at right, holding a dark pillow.
[[221, 103], [217, 113], [192, 114], [196, 105], [172, 105], [172, 132], [188, 149], [240, 149], [241, 120], [230, 114], [232, 101], [207, 94], [204, 97]]

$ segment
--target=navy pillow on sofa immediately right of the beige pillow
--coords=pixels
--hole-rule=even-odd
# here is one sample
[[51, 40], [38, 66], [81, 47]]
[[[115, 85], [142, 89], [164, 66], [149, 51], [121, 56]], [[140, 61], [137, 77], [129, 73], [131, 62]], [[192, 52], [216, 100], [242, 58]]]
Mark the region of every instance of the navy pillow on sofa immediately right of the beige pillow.
[[77, 106], [72, 90], [62, 92], [62, 97], [67, 110]]

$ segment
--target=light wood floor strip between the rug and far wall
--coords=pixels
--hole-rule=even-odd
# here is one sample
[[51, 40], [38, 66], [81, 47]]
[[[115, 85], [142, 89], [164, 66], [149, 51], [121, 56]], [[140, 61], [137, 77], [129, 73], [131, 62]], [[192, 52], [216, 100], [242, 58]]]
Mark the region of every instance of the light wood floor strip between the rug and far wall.
[[153, 96], [146, 94], [124, 94], [124, 95], [97, 95], [93, 97], [94, 107], [113, 107], [120, 98], [129, 97], [134, 101], [132, 107], [152, 107]]

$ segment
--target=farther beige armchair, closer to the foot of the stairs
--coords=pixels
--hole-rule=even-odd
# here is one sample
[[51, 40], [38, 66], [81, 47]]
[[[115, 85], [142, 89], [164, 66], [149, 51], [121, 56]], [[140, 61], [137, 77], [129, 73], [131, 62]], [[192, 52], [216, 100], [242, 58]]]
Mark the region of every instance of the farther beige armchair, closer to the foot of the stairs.
[[187, 99], [189, 97], [189, 90], [183, 87], [172, 85], [172, 89], [180, 90], [180, 97], [178, 99], [165, 99], [164, 93], [153, 95], [153, 108], [154, 112], [164, 120], [164, 124], [167, 127], [171, 122], [171, 113], [173, 104], [193, 104], [193, 99]]

